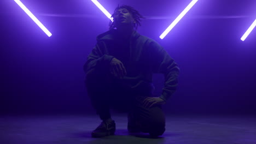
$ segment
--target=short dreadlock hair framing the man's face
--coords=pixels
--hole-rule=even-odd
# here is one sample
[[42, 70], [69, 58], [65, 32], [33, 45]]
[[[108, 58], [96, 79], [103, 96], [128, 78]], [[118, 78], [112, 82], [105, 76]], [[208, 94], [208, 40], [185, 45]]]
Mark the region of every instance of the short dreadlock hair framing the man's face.
[[[114, 10], [114, 14], [112, 14], [112, 16], [111, 16], [112, 18], [117, 13], [117, 11], [119, 9], [127, 9], [129, 11], [129, 13], [131, 13], [133, 19], [135, 20], [135, 23], [133, 23], [133, 27], [135, 27], [135, 29], [137, 29], [138, 26], [141, 26], [141, 19], [145, 19], [145, 17], [143, 17], [141, 14], [138, 13], [137, 10], [135, 10], [134, 8], [132, 8], [129, 5], [121, 5], [121, 6], [118, 5], [118, 7], [115, 8], [115, 10]], [[115, 25], [115, 22], [110, 20], [109, 21], [109, 29], [114, 29], [116, 27], [117, 26]]]

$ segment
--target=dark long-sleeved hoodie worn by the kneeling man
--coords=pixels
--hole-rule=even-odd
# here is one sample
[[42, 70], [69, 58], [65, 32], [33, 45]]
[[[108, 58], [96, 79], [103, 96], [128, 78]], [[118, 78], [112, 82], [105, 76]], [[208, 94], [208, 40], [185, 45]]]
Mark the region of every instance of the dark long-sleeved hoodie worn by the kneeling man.
[[123, 79], [116, 79], [118, 85], [131, 91], [153, 92], [153, 73], [162, 73], [165, 85], [160, 98], [166, 101], [176, 91], [179, 68], [153, 39], [133, 31], [131, 40], [121, 40], [116, 29], [100, 34], [84, 65], [85, 73], [91, 69], [109, 73], [109, 63], [114, 57], [124, 64], [127, 71]]

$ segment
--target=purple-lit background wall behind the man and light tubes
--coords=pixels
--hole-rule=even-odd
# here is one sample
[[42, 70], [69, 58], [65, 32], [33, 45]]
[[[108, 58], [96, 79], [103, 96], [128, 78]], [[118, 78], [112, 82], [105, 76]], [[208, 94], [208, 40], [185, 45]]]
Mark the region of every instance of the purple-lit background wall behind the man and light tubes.
[[[49, 29], [45, 33], [14, 1], [1, 1], [0, 113], [95, 113], [84, 87], [83, 64], [108, 30], [108, 19], [91, 1], [29, 1], [25, 5]], [[110, 13], [118, 4], [147, 19], [138, 32], [158, 41], [181, 69], [178, 91], [166, 113], [256, 111], [255, 1], [199, 1], [163, 40], [159, 35], [190, 3], [100, 1]], [[154, 75], [155, 93], [164, 78]]]

